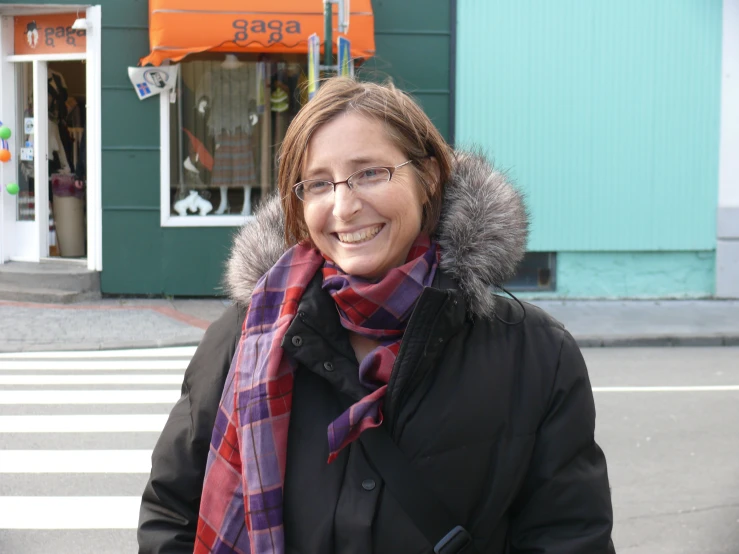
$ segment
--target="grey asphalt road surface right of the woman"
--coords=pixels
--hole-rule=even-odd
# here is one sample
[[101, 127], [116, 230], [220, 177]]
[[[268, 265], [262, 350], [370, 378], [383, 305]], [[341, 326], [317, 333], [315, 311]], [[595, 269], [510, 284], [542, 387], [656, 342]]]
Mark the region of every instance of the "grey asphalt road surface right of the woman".
[[608, 460], [617, 551], [738, 553], [739, 348], [583, 353], [596, 440]]

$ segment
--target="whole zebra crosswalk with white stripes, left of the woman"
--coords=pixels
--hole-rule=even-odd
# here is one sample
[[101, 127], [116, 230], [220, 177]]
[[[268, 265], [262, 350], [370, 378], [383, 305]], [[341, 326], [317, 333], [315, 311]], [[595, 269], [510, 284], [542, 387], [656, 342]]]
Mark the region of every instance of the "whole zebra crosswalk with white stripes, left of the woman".
[[[0, 354], [0, 444], [10, 448], [0, 449], [0, 482], [4, 490], [23, 495], [0, 493], [5, 495], [0, 496], [0, 535], [5, 530], [135, 532], [141, 497], [135, 487], [121, 488], [121, 483], [141, 479], [143, 489], [151, 471], [152, 437], [180, 397], [194, 352], [194, 347], [177, 347]], [[72, 414], [42, 415], [52, 409]], [[142, 413], [149, 410], [157, 413]], [[34, 449], [38, 438], [33, 436], [39, 433], [54, 438], [46, 449]], [[95, 486], [70, 488], [75, 482]], [[65, 495], [98, 492], [110, 496]], [[37, 493], [47, 496], [28, 496]]]

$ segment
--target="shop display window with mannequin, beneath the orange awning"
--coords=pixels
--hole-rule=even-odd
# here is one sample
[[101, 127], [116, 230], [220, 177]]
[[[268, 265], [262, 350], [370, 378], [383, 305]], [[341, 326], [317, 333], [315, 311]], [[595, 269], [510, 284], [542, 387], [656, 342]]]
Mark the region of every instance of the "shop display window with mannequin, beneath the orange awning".
[[297, 56], [206, 54], [180, 64], [168, 110], [167, 224], [238, 225], [252, 215], [275, 188], [276, 154], [305, 102], [305, 74]]

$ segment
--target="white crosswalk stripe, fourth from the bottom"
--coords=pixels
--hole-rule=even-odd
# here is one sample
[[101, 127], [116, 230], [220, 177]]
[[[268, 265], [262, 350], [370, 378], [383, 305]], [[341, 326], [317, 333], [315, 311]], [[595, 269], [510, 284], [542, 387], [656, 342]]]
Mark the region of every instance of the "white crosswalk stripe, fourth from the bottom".
[[0, 390], [2, 404], [174, 404], [179, 390]]

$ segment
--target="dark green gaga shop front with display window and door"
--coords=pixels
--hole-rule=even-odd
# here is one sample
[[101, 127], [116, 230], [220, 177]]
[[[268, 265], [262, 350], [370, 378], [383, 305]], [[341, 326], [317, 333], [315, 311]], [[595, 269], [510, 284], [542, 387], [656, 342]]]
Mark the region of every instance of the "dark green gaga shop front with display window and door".
[[[297, 34], [299, 25], [307, 26], [300, 19], [306, 15], [304, 12], [323, 12], [321, 0], [311, 2], [315, 6], [311, 4], [310, 8], [309, 2], [300, 4], [294, 0], [255, 0], [254, 6], [246, 0], [213, 0], [208, 10], [196, 6], [201, 14], [196, 17], [204, 17], [205, 11], [226, 12], [235, 17], [233, 27], [236, 29], [238, 20], [241, 28], [236, 31], [242, 32], [242, 36], [256, 36], [255, 31], [258, 34], [260, 23], [255, 19], [255, 11], [275, 12], [278, 15], [272, 19], [281, 17], [284, 25], [266, 15], [259, 16], [267, 32], [267, 40], [262, 42], [277, 39], [287, 46], [259, 51], [252, 44], [247, 49], [234, 47], [229, 51], [223, 44], [228, 37], [224, 37], [221, 44], [207, 48], [198, 44], [198, 37], [212, 35], [213, 29], [202, 19], [203, 27], [192, 31], [197, 48], [181, 60], [164, 62], [170, 72], [175, 63], [179, 66], [176, 93], [165, 92], [143, 100], [129, 78], [129, 68], [140, 66], [142, 58], [157, 52], [160, 58], [168, 56], [167, 45], [150, 50], [150, 39], [155, 43], [172, 29], [182, 35], [183, 20], [164, 20], [165, 25], [174, 27], [165, 28], [162, 35], [161, 13], [192, 11], [192, 1], [100, 0], [95, 5], [81, 5], [26, 0], [23, 4], [0, 6], [0, 16], [8, 28], [19, 17], [43, 22], [55, 14], [72, 21], [86, 16], [86, 51], [83, 48], [82, 53], [74, 55], [32, 52], [31, 56], [20, 57], [13, 55], [11, 49], [6, 58], [15, 65], [28, 63], [29, 88], [35, 86], [31, 67], [71, 75], [75, 68], [64, 63], [72, 60], [78, 65], [86, 64], [86, 71], [75, 69], [86, 75], [86, 79], [78, 79], [82, 81], [78, 83], [81, 92], [76, 93], [79, 98], [86, 98], [87, 106], [85, 255], [88, 268], [101, 272], [104, 294], [221, 294], [222, 270], [231, 238], [256, 208], [260, 197], [271, 192], [276, 145], [291, 116], [305, 101], [300, 86], [307, 63], [303, 40], [307, 37], [295, 37], [290, 32]], [[182, 9], [171, 9], [180, 7], [178, 4]], [[303, 13], [291, 17], [289, 10], [298, 4]], [[233, 11], [236, 5], [238, 13]], [[256, 10], [259, 5], [264, 9]], [[356, 56], [352, 33], [360, 27], [365, 36], [356, 42], [367, 42], [368, 26], [369, 38], [374, 41], [374, 55], [358, 65], [362, 78], [392, 78], [419, 99], [451, 140], [454, 124], [450, 25], [454, 2], [356, 0], [351, 2], [351, 9], [347, 34], [352, 40], [352, 55]], [[334, 13], [337, 11], [334, 6]], [[334, 28], [336, 19], [335, 16]], [[292, 20], [296, 23], [291, 27]], [[25, 21], [23, 24], [27, 25]], [[269, 33], [276, 32], [278, 26], [280, 36], [270, 38]], [[3, 30], [6, 36], [12, 33], [5, 27]], [[80, 36], [84, 32], [80, 31]], [[256, 39], [258, 42], [259, 37]], [[3, 67], [8, 74], [18, 75], [12, 63]], [[42, 92], [40, 87], [36, 89]], [[10, 103], [11, 96], [8, 93], [4, 102]], [[16, 119], [22, 122], [20, 117]], [[6, 199], [6, 203], [11, 201], [14, 200]], [[6, 211], [15, 213], [11, 208]], [[35, 225], [42, 239], [40, 247], [38, 243], [32, 245], [31, 255], [24, 258], [10, 245], [16, 251], [5, 252], [5, 260], [37, 259], [39, 250], [42, 260], [54, 255], [53, 244], [49, 244], [54, 239], [44, 237], [45, 224]]]

